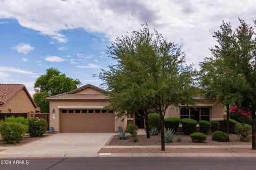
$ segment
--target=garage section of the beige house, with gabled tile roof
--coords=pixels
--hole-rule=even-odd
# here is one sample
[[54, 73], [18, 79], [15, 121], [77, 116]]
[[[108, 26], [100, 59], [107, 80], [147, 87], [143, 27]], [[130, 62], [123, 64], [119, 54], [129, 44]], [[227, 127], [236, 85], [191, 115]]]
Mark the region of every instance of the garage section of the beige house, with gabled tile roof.
[[105, 109], [106, 91], [91, 84], [46, 99], [54, 132], [115, 132], [120, 126], [115, 113]]

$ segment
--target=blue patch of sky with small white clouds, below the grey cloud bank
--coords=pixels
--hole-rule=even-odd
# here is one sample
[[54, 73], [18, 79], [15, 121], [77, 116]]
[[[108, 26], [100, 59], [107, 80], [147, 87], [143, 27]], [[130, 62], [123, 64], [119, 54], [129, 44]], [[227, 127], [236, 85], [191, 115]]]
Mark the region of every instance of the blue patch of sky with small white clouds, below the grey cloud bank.
[[[38, 75], [50, 67], [83, 84], [101, 83], [92, 74], [105, 69], [111, 59], [106, 55], [109, 40], [82, 29], [61, 33], [68, 39], [62, 44], [38, 31], [22, 27], [17, 20], [0, 20], [0, 80], [1, 83], [23, 83], [33, 93]], [[5, 75], [2, 75], [5, 74]]]

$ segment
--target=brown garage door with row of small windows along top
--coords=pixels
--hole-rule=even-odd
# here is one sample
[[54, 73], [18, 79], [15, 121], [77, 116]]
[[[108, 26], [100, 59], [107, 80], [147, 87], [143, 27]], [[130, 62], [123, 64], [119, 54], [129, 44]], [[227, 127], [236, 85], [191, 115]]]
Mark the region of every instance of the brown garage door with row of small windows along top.
[[112, 111], [62, 109], [61, 132], [115, 132], [115, 115]]

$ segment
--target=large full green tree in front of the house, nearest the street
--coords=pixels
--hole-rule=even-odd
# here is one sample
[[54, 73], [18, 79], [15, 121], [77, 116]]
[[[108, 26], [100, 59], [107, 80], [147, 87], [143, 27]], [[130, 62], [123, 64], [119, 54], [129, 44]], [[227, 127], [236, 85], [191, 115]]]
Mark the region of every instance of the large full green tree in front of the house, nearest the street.
[[[131, 35], [117, 38], [109, 48], [115, 64], [103, 70], [100, 78], [113, 101], [125, 111], [145, 107], [161, 117], [161, 145], [165, 150], [164, 116], [169, 106], [194, 104], [195, 71], [185, 65], [185, 53], [147, 26]], [[126, 101], [126, 102], [123, 102]], [[135, 107], [134, 107], [135, 106]], [[134, 108], [133, 108], [134, 107]], [[119, 106], [117, 107], [119, 108]]]

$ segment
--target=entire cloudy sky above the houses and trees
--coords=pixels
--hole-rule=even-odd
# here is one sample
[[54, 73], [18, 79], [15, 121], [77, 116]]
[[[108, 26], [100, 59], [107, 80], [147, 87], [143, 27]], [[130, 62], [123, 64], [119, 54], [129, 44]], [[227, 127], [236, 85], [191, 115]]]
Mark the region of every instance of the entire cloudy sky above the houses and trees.
[[182, 45], [187, 64], [198, 69], [222, 21], [237, 27], [239, 17], [253, 24], [255, 6], [254, 0], [2, 0], [0, 83], [22, 83], [33, 94], [36, 78], [55, 67], [99, 86], [92, 74], [113, 62], [106, 46], [145, 22]]

